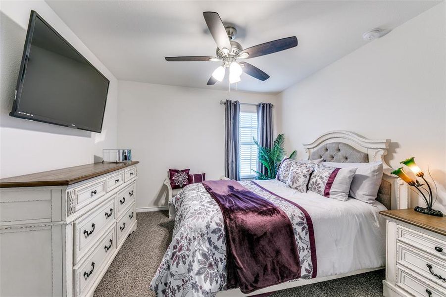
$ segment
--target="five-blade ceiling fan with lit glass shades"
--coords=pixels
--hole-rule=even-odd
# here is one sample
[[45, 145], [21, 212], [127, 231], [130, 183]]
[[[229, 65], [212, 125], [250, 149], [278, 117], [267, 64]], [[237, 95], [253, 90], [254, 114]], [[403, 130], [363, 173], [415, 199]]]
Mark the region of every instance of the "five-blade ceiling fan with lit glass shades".
[[209, 78], [207, 85], [214, 85], [217, 81], [221, 82], [225, 77], [226, 68], [229, 68], [229, 83], [240, 82], [240, 75], [245, 72], [246, 74], [265, 81], [269, 78], [269, 75], [258, 69], [257, 67], [242, 61], [239, 59], [249, 59], [273, 52], [291, 49], [297, 46], [296, 36], [282, 38], [270, 42], [266, 42], [260, 45], [243, 49], [242, 46], [234, 41], [237, 30], [234, 27], [225, 27], [221, 21], [220, 16], [216, 12], [206, 11], [203, 12], [204, 20], [207, 27], [217, 44], [216, 57], [211, 56], [179, 56], [179, 57], [166, 57], [167, 61], [221, 61], [223, 65], [218, 66], [214, 70], [212, 76]]

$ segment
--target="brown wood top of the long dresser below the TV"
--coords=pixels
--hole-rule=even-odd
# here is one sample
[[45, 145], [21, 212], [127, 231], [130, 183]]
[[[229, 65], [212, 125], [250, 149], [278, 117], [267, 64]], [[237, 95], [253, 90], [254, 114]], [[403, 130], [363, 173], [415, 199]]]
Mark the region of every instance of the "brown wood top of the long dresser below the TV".
[[138, 161], [130, 161], [125, 163], [93, 163], [27, 175], [7, 177], [0, 179], [0, 188], [69, 186], [138, 163]]

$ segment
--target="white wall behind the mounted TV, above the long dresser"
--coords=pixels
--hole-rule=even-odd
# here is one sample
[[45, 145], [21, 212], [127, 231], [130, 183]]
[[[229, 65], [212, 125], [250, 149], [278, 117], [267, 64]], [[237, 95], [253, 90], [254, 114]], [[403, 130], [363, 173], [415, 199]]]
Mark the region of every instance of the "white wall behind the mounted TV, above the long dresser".
[[[110, 80], [102, 133], [78, 131], [8, 115], [12, 108], [31, 9]], [[0, 177], [98, 161], [117, 142], [117, 80], [43, 0], [2, 1], [0, 6]]]

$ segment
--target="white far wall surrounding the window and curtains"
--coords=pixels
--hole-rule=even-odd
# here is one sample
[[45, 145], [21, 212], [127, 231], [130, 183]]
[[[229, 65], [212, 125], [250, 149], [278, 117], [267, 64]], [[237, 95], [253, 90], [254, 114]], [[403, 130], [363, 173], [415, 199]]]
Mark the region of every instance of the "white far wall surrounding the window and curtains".
[[[137, 208], [167, 205], [169, 168], [204, 172], [208, 180], [224, 175], [225, 107], [219, 101], [227, 92], [119, 81], [118, 98], [118, 146], [131, 148], [141, 162]], [[275, 96], [261, 94], [231, 91], [231, 99], [276, 104]]]

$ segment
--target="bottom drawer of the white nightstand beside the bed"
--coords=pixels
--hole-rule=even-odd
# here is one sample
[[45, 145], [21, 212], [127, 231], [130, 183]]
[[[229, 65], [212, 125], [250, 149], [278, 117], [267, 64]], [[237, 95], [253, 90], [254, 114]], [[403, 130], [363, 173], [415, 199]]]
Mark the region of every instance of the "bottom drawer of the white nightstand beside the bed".
[[412, 296], [445, 297], [446, 293], [441, 288], [424, 280], [422, 277], [414, 277], [404, 269], [397, 267], [396, 286], [408, 292]]

